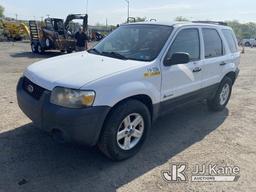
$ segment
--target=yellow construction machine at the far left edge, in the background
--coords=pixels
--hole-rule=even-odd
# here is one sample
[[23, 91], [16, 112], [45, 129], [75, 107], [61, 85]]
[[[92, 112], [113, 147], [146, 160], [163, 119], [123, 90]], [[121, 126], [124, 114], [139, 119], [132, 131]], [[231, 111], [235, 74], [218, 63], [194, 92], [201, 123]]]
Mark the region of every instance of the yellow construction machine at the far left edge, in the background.
[[2, 33], [7, 40], [20, 41], [30, 36], [29, 28], [19, 21], [0, 20]]

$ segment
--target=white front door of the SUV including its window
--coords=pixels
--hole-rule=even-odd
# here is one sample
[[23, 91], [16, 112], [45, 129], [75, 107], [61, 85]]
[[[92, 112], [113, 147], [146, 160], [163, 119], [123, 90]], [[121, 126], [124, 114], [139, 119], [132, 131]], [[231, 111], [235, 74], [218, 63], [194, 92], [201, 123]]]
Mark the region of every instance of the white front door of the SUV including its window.
[[185, 52], [190, 54], [191, 60], [186, 64], [162, 67], [162, 102], [184, 98], [180, 96], [186, 97], [202, 87], [200, 47], [200, 33], [197, 27], [181, 28], [176, 32], [165, 59], [174, 53]]

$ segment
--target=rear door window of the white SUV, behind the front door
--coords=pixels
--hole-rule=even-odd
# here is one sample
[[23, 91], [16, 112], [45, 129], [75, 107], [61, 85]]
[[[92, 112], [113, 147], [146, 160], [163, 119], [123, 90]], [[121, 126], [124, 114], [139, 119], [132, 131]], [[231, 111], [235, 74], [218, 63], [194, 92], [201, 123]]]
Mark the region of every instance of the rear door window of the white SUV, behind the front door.
[[205, 58], [219, 57], [223, 55], [223, 43], [215, 29], [203, 29]]

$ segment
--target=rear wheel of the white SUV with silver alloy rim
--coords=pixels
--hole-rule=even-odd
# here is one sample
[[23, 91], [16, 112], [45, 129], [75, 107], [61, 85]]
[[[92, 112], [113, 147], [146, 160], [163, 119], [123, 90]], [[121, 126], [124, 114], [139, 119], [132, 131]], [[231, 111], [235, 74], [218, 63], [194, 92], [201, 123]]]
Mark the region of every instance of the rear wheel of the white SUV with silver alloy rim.
[[231, 96], [233, 82], [230, 78], [224, 77], [213, 99], [208, 99], [208, 108], [211, 111], [222, 111], [228, 104]]

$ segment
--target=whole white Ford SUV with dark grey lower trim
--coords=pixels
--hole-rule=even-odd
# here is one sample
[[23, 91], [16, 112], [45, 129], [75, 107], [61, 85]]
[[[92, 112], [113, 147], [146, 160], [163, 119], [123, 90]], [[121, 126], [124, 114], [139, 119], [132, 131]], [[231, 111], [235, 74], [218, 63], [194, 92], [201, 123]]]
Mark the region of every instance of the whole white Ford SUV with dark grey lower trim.
[[224, 25], [125, 24], [88, 52], [29, 66], [18, 103], [56, 138], [97, 144], [123, 160], [139, 151], [161, 114], [199, 99], [223, 110], [239, 61], [236, 37]]

